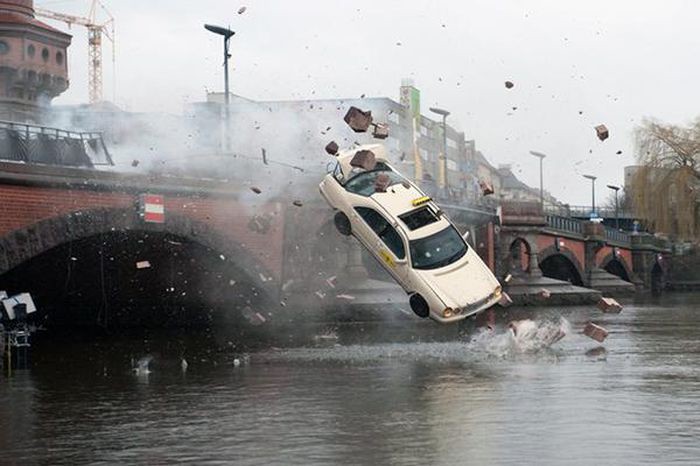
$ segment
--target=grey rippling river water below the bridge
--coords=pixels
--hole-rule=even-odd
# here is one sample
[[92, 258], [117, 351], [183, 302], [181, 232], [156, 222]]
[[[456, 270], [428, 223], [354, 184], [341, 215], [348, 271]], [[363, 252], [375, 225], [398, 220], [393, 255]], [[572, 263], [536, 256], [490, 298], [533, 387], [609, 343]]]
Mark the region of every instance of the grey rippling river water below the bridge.
[[[139, 375], [128, 343], [42, 348], [0, 378], [0, 464], [698, 464], [698, 304], [536, 310], [571, 328], [544, 349], [500, 326], [447, 342], [329, 335], [240, 365], [190, 348], [186, 372]], [[591, 318], [603, 345], [579, 333]]]

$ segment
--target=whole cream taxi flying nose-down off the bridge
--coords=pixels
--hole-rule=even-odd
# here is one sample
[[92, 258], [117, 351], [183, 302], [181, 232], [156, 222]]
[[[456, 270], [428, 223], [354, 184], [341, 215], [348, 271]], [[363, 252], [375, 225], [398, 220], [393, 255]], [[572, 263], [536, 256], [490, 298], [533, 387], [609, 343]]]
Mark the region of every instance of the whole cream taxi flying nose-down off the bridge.
[[384, 146], [342, 151], [319, 185], [335, 225], [410, 295], [419, 317], [455, 322], [496, 304], [501, 286], [440, 208], [387, 163]]

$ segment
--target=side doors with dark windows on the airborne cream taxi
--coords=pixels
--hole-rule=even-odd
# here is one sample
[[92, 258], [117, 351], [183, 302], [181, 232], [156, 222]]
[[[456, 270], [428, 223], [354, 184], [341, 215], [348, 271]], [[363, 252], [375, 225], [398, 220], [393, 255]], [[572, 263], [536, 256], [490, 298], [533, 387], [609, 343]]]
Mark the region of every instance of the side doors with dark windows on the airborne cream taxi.
[[406, 242], [397, 230], [382, 214], [371, 207], [355, 207], [355, 212], [362, 220], [366, 231], [363, 236], [368, 239], [366, 246], [372, 254], [384, 265], [399, 285], [405, 290], [411, 290], [408, 274]]

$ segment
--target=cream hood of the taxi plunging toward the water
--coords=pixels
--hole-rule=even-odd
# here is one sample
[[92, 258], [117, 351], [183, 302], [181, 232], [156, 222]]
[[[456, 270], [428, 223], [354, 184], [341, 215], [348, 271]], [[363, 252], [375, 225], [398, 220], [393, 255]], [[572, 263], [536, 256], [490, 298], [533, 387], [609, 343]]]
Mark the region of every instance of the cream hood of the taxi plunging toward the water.
[[416, 270], [445, 306], [464, 308], [488, 298], [499, 285], [481, 258], [469, 249], [457, 262], [435, 270]]

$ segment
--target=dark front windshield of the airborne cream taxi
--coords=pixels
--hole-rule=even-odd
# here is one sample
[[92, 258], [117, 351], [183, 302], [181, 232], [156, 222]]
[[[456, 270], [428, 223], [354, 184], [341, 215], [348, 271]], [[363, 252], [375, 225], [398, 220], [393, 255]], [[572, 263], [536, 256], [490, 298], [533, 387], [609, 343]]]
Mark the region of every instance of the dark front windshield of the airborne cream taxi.
[[451, 225], [434, 235], [413, 240], [409, 246], [413, 268], [421, 270], [452, 264], [467, 252], [467, 244]]

